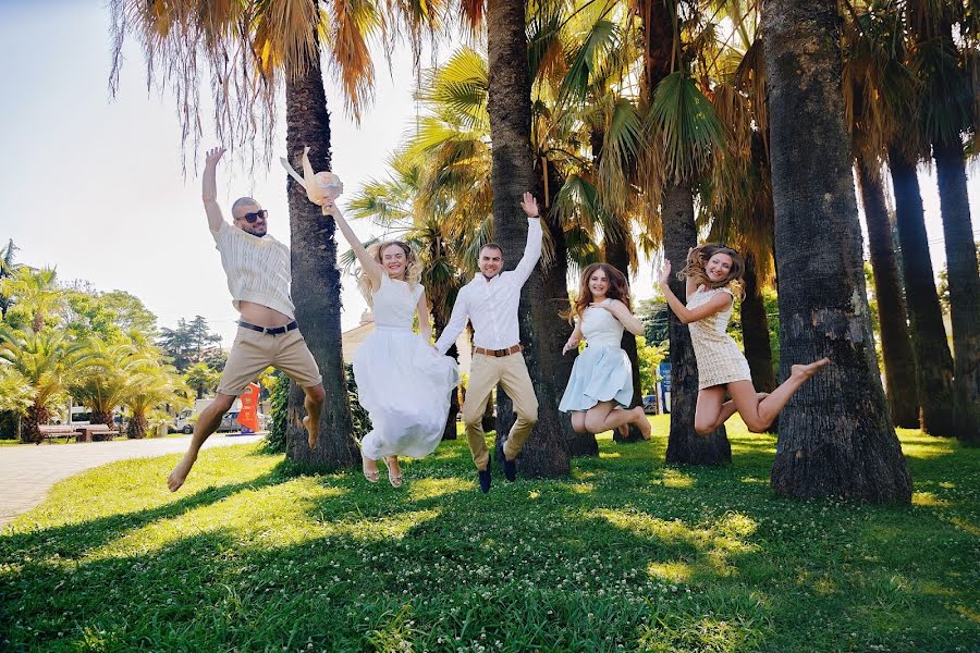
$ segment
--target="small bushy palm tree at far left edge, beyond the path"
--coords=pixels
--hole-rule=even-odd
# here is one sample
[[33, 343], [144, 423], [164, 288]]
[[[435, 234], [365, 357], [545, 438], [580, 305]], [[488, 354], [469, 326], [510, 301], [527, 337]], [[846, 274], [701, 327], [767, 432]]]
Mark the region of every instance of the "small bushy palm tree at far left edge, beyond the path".
[[94, 358], [87, 343], [69, 342], [60, 331], [23, 331], [0, 324], [0, 365], [30, 387], [30, 404], [21, 431], [24, 442], [40, 442], [38, 427], [48, 423], [51, 404]]

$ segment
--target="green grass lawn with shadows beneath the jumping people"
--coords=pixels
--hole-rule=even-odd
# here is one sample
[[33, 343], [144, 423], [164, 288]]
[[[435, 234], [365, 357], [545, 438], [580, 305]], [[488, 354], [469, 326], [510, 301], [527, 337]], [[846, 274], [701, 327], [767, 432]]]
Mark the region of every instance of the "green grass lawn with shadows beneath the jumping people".
[[672, 468], [665, 420], [486, 496], [464, 441], [400, 491], [259, 445], [83, 473], [0, 535], [0, 649], [980, 650], [980, 451], [905, 431], [911, 506], [789, 501], [773, 438]]

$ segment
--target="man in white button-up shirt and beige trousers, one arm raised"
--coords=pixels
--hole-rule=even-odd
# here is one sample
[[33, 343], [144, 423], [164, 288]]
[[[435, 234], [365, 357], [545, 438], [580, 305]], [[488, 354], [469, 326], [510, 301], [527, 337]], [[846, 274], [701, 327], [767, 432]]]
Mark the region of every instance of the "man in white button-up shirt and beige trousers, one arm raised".
[[527, 244], [520, 262], [513, 270], [501, 272], [504, 262], [500, 246], [483, 245], [480, 273], [460, 291], [453, 315], [436, 342], [436, 349], [445, 354], [466, 326], [466, 321], [473, 322], [473, 362], [466, 401], [463, 402], [463, 421], [483, 492], [490, 490], [490, 452], [481, 421], [493, 387], [498, 383], [503, 385], [517, 412], [517, 421], [503, 446], [504, 476], [509, 481], [517, 478], [517, 455], [538, 421], [538, 398], [520, 354], [517, 306], [520, 288], [541, 257], [541, 221], [538, 202], [530, 193], [524, 194], [520, 208], [527, 214]]

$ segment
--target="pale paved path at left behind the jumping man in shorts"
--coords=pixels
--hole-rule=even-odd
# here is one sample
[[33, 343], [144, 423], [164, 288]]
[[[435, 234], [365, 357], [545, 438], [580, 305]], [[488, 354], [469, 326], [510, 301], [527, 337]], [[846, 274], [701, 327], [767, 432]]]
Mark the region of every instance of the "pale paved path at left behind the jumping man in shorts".
[[[204, 448], [247, 444], [265, 435], [220, 435]], [[48, 490], [62, 479], [126, 458], [148, 458], [187, 451], [191, 436], [152, 440], [120, 440], [77, 444], [41, 444], [0, 447], [0, 527], [38, 505]]]

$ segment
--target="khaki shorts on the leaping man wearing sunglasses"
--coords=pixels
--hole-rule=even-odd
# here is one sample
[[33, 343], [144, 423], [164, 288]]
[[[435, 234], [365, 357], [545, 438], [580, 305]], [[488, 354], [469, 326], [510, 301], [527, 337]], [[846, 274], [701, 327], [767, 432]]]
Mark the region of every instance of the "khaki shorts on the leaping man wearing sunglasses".
[[238, 396], [270, 366], [303, 387], [319, 385], [323, 380], [298, 329], [270, 335], [238, 326], [218, 392]]

